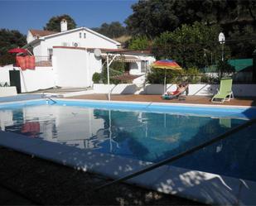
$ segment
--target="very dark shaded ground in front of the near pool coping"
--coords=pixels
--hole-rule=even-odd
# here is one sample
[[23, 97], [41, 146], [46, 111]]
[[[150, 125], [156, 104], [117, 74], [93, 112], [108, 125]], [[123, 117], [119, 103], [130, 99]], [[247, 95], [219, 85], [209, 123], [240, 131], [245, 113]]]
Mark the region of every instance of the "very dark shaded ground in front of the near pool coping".
[[0, 192], [5, 192], [0, 195], [2, 205], [199, 205], [128, 184], [94, 192], [109, 180], [4, 147], [0, 152]]

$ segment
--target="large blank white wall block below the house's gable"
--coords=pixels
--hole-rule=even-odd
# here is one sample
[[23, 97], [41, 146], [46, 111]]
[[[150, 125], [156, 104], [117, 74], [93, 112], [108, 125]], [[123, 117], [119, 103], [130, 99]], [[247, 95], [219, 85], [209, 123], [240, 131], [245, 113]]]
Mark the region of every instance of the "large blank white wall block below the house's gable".
[[60, 87], [92, 86], [92, 75], [101, 69], [101, 60], [87, 50], [54, 48], [57, 80]]

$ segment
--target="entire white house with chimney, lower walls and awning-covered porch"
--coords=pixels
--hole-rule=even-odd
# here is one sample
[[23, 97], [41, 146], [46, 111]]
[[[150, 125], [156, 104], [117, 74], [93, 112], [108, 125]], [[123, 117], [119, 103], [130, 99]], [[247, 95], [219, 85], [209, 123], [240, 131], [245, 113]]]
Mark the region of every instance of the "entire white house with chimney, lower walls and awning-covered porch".
[[[15, 85], [22, 93], [55, 86], [90, 87], [93, 85], [92, 76], [95, 72], [101, 72], [106, 55], [122, 54], [129, 63], [130, 74], [146, 74], [146, 68], [155, 60], [147, 53], [123, 50], [118, 41], [87, 27], [67, 30], [67, 22], [62, 20], [60, 28], [60, 32], [29, 30], [27, 45], [23, 48], [35, 55], [36, 69], [14, 68], [15, 72], [5, 71], [5, 76], [10, 73], [6, 82], [13, 85], [14, 75], [11, 73], [16, 73], [15, 76], [20, 73], [20, 80], [15, 79]], [[100, 55], [94, 55], [95, 49], [101, 51]], [[4, 70], [0, 70], [0, 75]], [[13, 69], [8, 67], [8, 70]], [[144, 77], [136, 81], [140, 83]]]

